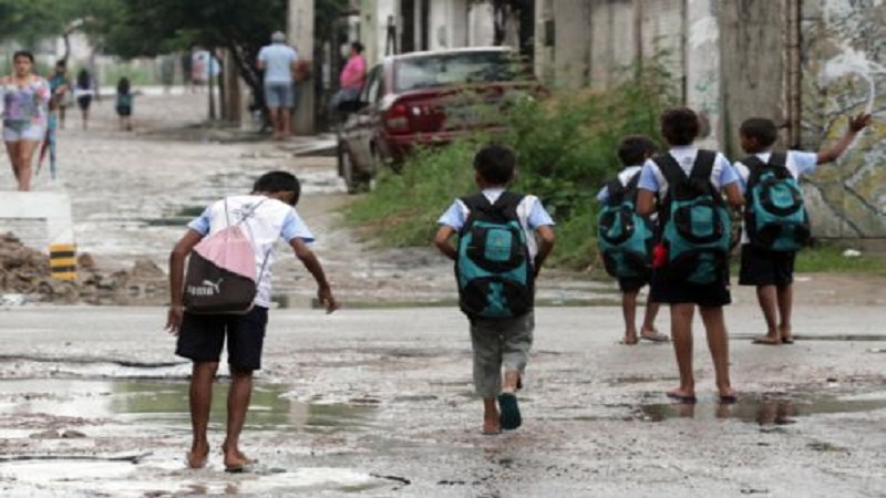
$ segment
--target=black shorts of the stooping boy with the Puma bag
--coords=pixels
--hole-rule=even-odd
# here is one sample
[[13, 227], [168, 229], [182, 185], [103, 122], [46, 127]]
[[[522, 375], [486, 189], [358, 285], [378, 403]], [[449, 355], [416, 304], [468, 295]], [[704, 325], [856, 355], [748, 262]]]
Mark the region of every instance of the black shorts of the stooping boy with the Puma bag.
[[185, 312], [175, 354], [195, 362], [218, 362], [227, 336], [228, 364], [238, 370], [259, 370], [267, 324], [268, 309], [261, 307], [247, 314]]

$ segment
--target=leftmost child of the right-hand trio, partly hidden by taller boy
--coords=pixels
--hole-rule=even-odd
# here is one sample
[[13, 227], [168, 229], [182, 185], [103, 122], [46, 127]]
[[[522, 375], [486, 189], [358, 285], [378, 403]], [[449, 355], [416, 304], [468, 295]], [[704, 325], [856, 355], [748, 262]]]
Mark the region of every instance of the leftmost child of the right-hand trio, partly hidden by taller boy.
[[652, 248], [656, 227], [650, 218], [637, 215], [637, 184], [642, 164], [658, 152], [658, 146], [645, 135], [626, 136], [618, 145], [618, 158], [624, 169], [607, 181], [597, 200], [602, 204], [597, 222], [597, 248], [606, 271], [618, 279], [621, 291], [621, 314], [625, 318], [624, 344], [633, 345], [639, 339], [667, 342], [668, 336], [656, 330], [659, 304], [647, 299], [643, 324], [637, 336], [637, 294], [652, 276]]

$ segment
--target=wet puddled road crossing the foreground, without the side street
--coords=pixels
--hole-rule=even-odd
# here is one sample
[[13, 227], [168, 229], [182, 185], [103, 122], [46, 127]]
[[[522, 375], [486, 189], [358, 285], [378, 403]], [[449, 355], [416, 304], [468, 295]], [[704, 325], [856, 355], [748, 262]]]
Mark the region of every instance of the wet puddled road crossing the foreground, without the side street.
[[525, 424], [490, 437], [456, 311], [275, 310], [243, 439], [259, 465], [228, 475], [224, 367], [209, 466], [184, 469], [188, 365], [162, 309], [7, 310], [0, 494], [882, 496], [882, 310], [806, 309], [776, 347], [746, 339], [754, 312], [728, 312], [739, 403], [715, 402], [698, 333], [699, 403], [679, 405], [670, 346], [617, 344], [617, 309], [539, 309]]

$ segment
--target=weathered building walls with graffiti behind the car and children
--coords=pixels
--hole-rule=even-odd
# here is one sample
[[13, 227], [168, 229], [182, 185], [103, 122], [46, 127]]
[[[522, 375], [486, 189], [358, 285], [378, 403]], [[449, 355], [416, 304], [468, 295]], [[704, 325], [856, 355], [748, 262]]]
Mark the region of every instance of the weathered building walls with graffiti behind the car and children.
[[[848, 114], [886, 110], [885, 0], [362, 0], [373, 56], [511, 44], [564, 89], [607, 89], [656, 58], [710, 124], [702, 145], [740, 157], [738, 128], [774, 120], [780, 146], [814, 151]], [[362, 19], [361, 22], [368, 21]], [[381, 29], [391, 37], [379, 35]], [[395, 40], [396, 46], [390, 41]], [[879, 93], [878, 93], [879, 92]], [[807, 181], [816, 235], [886, 239], [886, 127]]]

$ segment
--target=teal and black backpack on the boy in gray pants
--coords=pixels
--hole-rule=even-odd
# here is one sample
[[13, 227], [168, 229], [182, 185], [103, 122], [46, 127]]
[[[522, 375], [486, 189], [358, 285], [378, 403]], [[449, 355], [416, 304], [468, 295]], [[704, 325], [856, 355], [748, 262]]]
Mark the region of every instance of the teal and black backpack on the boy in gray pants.
[[472, 318], [508, 319], [532, 311], [535, 292], [526, 232], [517, 217], [524, 196], [505, 191], [462, 198], [470, 212], [459, 232], [459, 304]]

